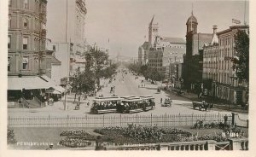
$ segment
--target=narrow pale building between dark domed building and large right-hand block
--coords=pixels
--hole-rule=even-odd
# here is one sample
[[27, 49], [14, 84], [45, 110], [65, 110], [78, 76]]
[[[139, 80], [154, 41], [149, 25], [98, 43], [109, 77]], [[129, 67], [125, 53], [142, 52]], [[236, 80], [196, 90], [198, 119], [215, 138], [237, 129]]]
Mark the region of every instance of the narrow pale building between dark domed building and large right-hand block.
[[212, 84], [218, 81], [218, 36], [217, 26], [213, 26], [212, 42], [203, 47], [203, 73], [205, 93], [215, 96], [216, 90]]

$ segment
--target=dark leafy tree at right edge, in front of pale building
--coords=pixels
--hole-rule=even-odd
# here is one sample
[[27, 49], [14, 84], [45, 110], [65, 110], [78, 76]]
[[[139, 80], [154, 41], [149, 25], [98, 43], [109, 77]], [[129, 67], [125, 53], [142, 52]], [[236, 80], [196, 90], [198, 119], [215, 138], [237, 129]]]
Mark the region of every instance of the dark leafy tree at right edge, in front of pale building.
[[239, 30], [235, 35], [235, 57], [231, 61], [237, 78], [245, 79], [247, 82], [249, 81], [249, 44], [247, 32]]

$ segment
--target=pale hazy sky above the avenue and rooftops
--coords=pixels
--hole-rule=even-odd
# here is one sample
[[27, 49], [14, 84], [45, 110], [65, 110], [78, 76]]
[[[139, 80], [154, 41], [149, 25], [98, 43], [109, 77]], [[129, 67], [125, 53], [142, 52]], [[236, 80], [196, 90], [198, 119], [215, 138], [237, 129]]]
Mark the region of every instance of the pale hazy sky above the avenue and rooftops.
[[[48, 10], [57, 11], [58, 7], [50, 6], [50, 1]], [[110, 55], [119, 52], [137, 57], [138, 47], [148, 41], [148, 24], [153, 15], [154, 21], [159, 23], [161, 36], [185, 39], [185, 24], [191, 15], [192, 2], [198, 32], [211, 33], [213, 25], [223, 31], [232, 25], [232, 19], [241, 20], [243, 24], [244, 1], [86, 0], [85, 38], [90, 44], [96, 42], [109, 47]], [[247, 23], [248, 6], [247, 2]]]

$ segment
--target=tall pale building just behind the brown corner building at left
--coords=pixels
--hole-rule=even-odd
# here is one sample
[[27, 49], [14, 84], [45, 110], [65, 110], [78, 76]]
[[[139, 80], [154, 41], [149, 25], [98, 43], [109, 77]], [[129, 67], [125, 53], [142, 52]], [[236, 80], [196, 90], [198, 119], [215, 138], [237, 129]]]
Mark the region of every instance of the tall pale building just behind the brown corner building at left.
[[[67, 44], [66, 47], [73, 44], [73, 54], [70, 55], [73, 67], [68, 70], [65, 69], [67, 70], [65, 73], [73, 75], [77, 69], [84, 67], [84, 53], [87, 47], [84, 37], [85, 15], [87, 14], [85, 0], [68, 0], [67, 3], [50, 1], [49, 5], [59, 9], [58, 12], [55, 11], [55, 7], [50, 7], [48, 10], [50, 17], [47, 25], [48, 38], [55, 44]], [[67, 17], [62, 18], [65, 20], [56, 20], [63, 15]], [[65, 52], [67, 51], [69, 50], [67, 49]], [[61, 61], [61, 58], [58, 58], [57, 55], [56, 58]]]

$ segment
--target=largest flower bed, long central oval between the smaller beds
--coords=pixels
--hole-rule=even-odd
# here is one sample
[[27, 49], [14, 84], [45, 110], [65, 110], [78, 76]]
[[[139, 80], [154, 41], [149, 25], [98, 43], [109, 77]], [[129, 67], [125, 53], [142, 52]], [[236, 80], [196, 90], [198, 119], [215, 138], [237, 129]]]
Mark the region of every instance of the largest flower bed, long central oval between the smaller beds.
[[103, 135], [108, 141], [124, 143], [155, 143], [155, 142], [181, 142], [193, 141], [188, 131], [175, 128], [160, 129], [156, 126], [130, 125], [128, 127], [108, 127], [95, 132]]

